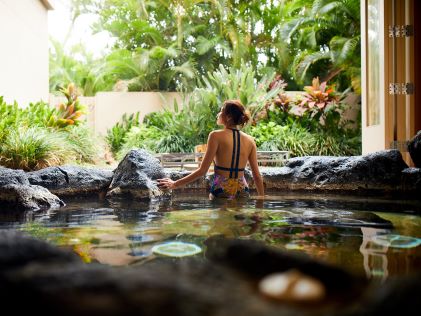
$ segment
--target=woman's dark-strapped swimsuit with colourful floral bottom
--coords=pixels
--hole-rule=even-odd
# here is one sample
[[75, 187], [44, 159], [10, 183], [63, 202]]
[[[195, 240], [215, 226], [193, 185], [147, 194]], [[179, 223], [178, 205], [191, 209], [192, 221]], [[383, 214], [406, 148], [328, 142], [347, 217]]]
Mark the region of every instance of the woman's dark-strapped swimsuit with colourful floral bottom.
[[247, 181], [244, 176], [238, 177], [238, 172], [244, 171], [244, 168], [238, 168], [240, 162], [240, 131], [238, 129], [231, 130], [233, 138], [231, 167], [225, 168], [215, 164], [215, 170], [229, 171], [230, 175], [227, 178], [215, 173], [210, 193], [217, 198], [247, 198], [249, 197]]

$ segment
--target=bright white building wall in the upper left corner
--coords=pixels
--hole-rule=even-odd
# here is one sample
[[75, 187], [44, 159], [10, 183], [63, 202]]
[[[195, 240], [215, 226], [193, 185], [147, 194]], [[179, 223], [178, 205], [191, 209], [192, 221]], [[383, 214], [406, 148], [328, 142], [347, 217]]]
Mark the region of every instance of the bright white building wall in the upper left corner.
[[48, 19], [40, 0], [0, 0], [0, 96], [48, 100]]

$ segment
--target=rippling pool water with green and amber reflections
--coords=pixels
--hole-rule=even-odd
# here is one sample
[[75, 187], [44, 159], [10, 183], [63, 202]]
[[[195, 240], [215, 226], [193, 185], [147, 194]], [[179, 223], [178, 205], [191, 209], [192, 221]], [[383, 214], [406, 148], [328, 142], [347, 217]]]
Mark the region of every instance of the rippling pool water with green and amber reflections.
[[87, 263], [141, 264], [157, 257], [156, 245], [203, 249], [208, 237], [224, 235], [305, 252], [368, 278], [421, 270], [421, 201], [288, 194], [221, 202], [197, 193], [151, 203], [75, 200], [45, 212], [0, 210], [0, 228], [70, 248]]

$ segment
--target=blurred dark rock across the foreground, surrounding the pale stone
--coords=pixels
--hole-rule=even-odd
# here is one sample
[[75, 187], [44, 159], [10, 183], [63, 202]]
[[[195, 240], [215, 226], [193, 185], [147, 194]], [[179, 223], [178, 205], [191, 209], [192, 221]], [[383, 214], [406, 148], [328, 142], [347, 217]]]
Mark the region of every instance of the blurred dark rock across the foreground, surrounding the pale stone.
[[[251, 240], [212, 237], [204, 255], [208, 260], [198, 255], [121, 268], [84, 265], [45, 242], [0, 232], [2, 307], [43, 315], [356, 316], [409, 315], [420, 306], [419, 276], [370, 284], [303, 253]], [[290, 269], [322, 282], [326, 297], [297, 304], [259, 291], [262, 277]]]

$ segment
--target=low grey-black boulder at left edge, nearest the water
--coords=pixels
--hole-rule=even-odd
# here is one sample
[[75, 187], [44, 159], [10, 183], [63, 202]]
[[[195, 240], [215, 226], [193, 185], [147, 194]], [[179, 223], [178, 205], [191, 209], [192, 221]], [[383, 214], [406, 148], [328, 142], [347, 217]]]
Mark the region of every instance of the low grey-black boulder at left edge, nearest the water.
[[38, 185], [8, 184], [0, 187], [0, 205], [21, 211], [38, 211], [64, 206], [64, 202]]

